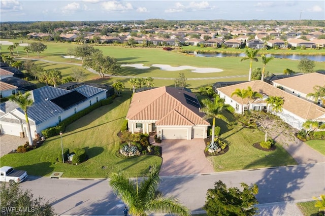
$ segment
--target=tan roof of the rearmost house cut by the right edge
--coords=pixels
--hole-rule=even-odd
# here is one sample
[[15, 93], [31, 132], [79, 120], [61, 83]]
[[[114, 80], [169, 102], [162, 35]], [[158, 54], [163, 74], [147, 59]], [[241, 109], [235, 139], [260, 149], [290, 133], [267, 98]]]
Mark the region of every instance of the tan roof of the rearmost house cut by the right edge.
[[[325, 75], [319, 73], [304, 74], [297, 77], [289, 77], [281, 80], [275, 80], [273, 83], [295, 89], [308, 94], [314, 92], [313, 87], [325, 85]], [[303, 83], [303, 85], [302, 85]]]

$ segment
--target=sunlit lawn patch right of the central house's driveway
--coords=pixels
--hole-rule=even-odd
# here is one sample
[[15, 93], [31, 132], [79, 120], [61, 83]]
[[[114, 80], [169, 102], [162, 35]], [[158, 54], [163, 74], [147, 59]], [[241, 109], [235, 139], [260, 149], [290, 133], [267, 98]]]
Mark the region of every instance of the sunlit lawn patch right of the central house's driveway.
[[[221, 128], [224, 130], [222, 125]], [[264, 140], [264, 133], [257, 129], [236, 126], [220, 137], [230, 143], [230, 149], [223, 155], [208, 157], [217, 172], [297, 164], [282, 148], [281, 143], [276, 143], [276, 150], [272, 152], [254, 148], [253, 143]]]

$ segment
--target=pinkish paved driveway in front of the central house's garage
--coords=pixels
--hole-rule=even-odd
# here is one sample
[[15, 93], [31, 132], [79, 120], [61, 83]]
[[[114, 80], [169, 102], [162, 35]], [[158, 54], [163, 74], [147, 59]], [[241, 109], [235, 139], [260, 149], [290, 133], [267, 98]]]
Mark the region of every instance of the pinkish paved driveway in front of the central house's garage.
[[159, 173], [161, 176], [214, 172], [205, 158], [203, 139], [163, 139], [161, 143], [155, 145], [163, 149], [163, 164]]

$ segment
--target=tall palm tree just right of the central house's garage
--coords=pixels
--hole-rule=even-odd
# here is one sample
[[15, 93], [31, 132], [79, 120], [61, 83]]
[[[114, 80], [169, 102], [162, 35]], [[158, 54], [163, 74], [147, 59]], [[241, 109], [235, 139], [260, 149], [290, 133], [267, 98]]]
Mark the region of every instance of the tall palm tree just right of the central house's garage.
[[214, 144], [214, 129], [215, 129], [215, 119], [221, 119], [225, 122], [229, 122], [228, 119], [222, 114], [223, 111], [228, 110], [230, 112], [234, 112], [234, 108], [224, 103], [224, 99], [220, 98], [218, 94], [216, 94], [214, 101], [205, 98], [202, 100], [204, 107], [200, 109], [201, 113], [204, 113], [205, 116], [203, 119], [213, 119], [212, 123], [212, 137], [211, 143]]

